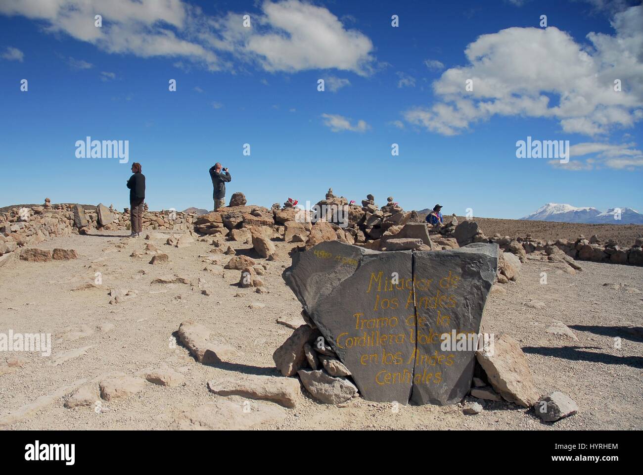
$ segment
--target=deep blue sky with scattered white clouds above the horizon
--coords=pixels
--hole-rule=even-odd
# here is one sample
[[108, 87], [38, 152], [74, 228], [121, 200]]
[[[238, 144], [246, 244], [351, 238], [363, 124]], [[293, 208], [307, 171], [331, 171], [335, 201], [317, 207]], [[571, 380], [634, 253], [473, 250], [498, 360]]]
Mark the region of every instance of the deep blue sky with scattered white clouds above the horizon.
[[[641, 211], [641, 24], [606, 0], [0, 0], [0, 206], [123, 208], [136, 161], [150, 209], [212, 209], [219, 161], [228, 198], [268, 207], [332, 187], [496, 218]], [[130, 163], [77, 158], [86, 136], [129, 140]], [[569, 140], [570, 163], [516, 158], [527, 136]]]

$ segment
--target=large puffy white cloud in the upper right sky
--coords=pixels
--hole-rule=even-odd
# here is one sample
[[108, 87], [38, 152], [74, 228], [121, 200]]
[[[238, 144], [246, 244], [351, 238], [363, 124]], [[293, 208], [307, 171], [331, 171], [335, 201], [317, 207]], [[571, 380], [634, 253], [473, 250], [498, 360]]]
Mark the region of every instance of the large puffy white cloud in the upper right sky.
[[[550, 26], [482, 35], [465, 50], [466, 66], [433, 82], [437, 104], [404, 111], [417, 126], [457, 135], [494, 115], [559, 120], [566, 133], [595, 136], [643, 118], [643, 6], [611, 21], [614, 35], [589, 33], [592, 47]], [[473, 91], [466, 91], [466, 80]], [[622, 91], [614, 91], [620, 79]], [[557, 98], [550, 104], [550, 96]]]

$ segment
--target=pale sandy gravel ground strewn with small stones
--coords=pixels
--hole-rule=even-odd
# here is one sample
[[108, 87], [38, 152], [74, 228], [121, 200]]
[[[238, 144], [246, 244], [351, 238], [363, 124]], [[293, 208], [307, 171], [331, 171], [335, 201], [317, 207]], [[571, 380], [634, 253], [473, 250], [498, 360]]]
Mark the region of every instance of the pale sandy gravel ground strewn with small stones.
[[[538, 223], [514, 226], [531, 226], [532, 236], [539, 236]], [[507, 233], [482, 227], [489, 235]], [[543, 230], [542, 237], [577, 236], [577, 230], [567, 231], [549, 237], [553, 231]], [[274, 259], [267, 260], [251, 244], [224, 242], [222, 250], [230, 246], [265, 268], [259, 276], [264, 292], [256, 292], [239, 286], [240, 270], [224, 268], [232, 256], [215, 252], [210, 237], [176, 247], [166, 244], [169, 231], [149, 232], [150, 239], [126, 234], [93, 230], [53, 237], [38, 248], [74, 249], [78, 258], [13, 259], [0, 268], [0, 332], [51, 333], [52, 348], [50, 357], [23, 351], [0, 359], [2, 429], [557, 431], [643, 425], [643, 339], [633, 331], [643, 326], [641, 266], [583, 261], [582, 271], [570, 272], [565, 262], [532, 252], [516, 281], [494, 285], [485, 331], [519, 342], [541, 395], [561, 391], [578, 405], [577, 414], [551, 424], [536, 418], [533, 408], [502, 400], [481, 401], [483, 410], [467, 415], [462, 404], [398, 406], [355, 397], [327, 405], [303, 389], [294, 407], [215, 395], [208, 383], [280, 376], [272, 355], [302, 323], [302, 306], [282, 279], [291, 265], [289, 250], [300, 244], [275, 238]], [[160, 252], [167, 263], [150, 264]], [[210, 339], [230, 348], [230, 357], [197, 362], [177, 335], [188, 320], [210, 330]]]

